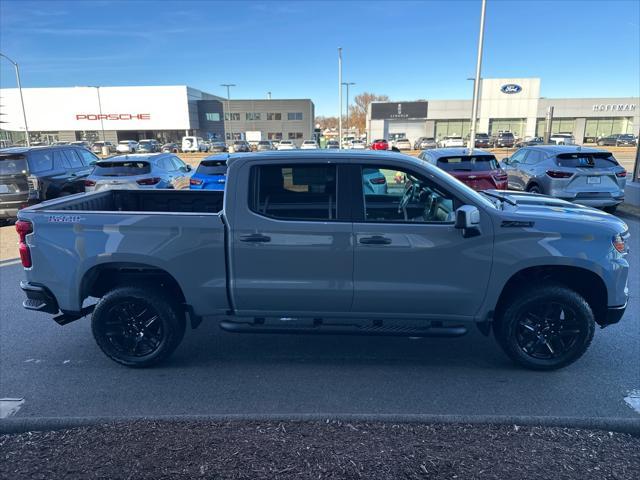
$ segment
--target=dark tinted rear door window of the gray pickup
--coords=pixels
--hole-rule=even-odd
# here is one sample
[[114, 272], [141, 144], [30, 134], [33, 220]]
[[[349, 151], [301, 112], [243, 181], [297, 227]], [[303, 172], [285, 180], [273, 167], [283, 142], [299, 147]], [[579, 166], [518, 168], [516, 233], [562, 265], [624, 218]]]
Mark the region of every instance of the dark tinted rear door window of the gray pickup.
[[251, 169], [251, 210], [282, 220], [336, 218], [335, 165], [260, 165]]

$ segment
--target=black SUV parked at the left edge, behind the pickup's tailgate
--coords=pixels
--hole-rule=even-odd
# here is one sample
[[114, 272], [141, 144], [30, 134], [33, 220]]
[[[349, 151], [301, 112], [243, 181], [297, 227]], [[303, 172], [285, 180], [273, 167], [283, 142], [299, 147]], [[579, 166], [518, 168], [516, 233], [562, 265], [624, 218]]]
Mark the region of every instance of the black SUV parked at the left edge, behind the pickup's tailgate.
[[0, 220], [44, 200], [84, 192], [84, 178], [98, 161], [82, 147], [13, 147], [0, 150]]

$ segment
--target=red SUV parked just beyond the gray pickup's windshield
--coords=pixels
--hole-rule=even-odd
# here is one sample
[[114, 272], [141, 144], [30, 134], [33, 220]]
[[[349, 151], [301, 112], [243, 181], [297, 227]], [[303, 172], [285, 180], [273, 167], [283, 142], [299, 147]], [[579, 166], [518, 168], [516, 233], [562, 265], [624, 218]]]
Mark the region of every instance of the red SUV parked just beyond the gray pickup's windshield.
[[436, 148], [423, 151], [419, 158], [436, 165], [474, 190], [507, 190], [507, 173], [489, 152]]

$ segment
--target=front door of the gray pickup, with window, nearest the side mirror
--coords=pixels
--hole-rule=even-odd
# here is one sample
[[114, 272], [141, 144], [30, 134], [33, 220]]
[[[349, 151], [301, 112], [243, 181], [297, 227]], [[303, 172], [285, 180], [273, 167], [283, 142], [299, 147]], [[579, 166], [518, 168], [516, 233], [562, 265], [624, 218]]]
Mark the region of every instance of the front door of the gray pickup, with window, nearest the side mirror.
[[462, 202], [409, 169], [362, 165], [358, 183], [364, 211], [354, 213], [353, 313], [473, 316], [491, 271], [490, 219], [481, 211], [482, 234], [464, 238], [454, 227]]

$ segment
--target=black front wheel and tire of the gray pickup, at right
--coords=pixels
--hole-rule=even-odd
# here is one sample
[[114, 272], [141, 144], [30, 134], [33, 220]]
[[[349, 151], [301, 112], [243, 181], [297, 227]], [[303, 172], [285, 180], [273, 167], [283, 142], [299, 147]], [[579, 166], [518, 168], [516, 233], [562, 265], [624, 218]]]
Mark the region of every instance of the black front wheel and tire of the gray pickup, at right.
[[513, 295], [493, 328], [498, 344], [515, 363], [531, 370], [556, 370], [584, 354], [595, 320], [581, 295], [552, 284]]

